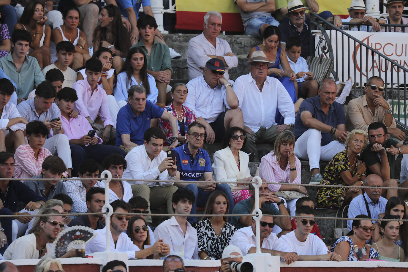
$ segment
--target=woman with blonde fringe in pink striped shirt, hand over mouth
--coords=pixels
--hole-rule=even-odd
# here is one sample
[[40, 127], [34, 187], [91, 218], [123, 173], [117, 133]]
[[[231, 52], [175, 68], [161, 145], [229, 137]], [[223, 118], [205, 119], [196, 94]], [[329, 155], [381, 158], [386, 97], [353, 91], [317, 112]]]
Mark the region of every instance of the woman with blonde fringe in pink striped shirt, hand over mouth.
[[[308, 196], [306, 188], [302, 186], [300, 177], [301, 165], [293, 150], [295, 149], [295, 136], [290, 130], [278, 134], [273, 144], [273, 150], [262, 157], [259, 165], [259, 177], [268, 182], [280, 182], [281, 185], [268, 184], [271, 192], [286, 192], [280, 195], [286, 198], [287, 209], [290, 215], [295, 215], [296, 201]], [[293, 192], [293, 193], [291, 193]]]

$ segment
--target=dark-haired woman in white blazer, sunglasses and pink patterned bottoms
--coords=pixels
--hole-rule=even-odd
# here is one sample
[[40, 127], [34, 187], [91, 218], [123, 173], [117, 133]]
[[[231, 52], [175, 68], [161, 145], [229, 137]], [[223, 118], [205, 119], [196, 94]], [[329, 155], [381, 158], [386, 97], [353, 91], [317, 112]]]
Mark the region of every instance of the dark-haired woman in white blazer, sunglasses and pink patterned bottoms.
[[[246, 140], [246, 132], [242, 128], [233, 126], [228, 128], [222, 140], [224, 149], [214, 153], [214, 179], [229, 181], [234, 204], [251, 197], [248, 183], [253, 179], [249, 171], [249, 156], [241, 151]], [[238, 183], [240, 182], [240, 183]], [[242, 183], [244, 182], [244, 183]]]

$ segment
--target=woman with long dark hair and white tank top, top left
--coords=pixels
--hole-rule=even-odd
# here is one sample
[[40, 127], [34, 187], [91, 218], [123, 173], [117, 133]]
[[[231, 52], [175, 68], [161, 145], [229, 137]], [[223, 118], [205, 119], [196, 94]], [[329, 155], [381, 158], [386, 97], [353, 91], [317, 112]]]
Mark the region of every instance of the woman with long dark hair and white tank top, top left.
[[14, 26], [14, 29], [24, 29], [31, 34], [33, 42], [27, 55], [35, 57], [41, 69], [51, 64], [49, 49], [51, 28], [45, 25], [47, 20], [41, 2], [33, 0], [24, 7], [20, 21]]

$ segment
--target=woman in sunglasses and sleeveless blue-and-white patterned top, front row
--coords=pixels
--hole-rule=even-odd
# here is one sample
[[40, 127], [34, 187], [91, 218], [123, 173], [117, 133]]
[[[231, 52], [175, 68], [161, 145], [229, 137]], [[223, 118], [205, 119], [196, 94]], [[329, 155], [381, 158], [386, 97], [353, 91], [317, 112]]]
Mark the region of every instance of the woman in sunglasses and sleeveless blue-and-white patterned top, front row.
[[341, 256], [342, 260], [347, 261], [364, 261], [366, 259], [377, 259], [378, 252], [375, 248], [370, 248], [366, 244], [371, 239], [375, 230], [373, 222], [367, 215], [357, 215], [353, 220], [353, 230], [348, 232], [347, 236], [340, 237], [334, 243], [331, 252]]

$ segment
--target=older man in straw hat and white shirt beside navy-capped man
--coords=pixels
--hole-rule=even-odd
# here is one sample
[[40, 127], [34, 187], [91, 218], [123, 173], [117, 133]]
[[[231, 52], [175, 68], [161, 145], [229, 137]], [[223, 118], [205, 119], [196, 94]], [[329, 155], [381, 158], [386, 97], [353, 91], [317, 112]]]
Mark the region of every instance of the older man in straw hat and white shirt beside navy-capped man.
[[[245, 64], [249, 65], [249, 73], [238, 77], [233, 89], [244, 115], [244, 130], [247, 133], [242, 150], [253, 152], [253, 161], [259, 161], [256, 140], [274, 142], [279, 133], [290, 129], [295, 124], [295, 106], [282, 83], [267, 76], [268, 64], [272, 62], [267, 60], [264, 52], [254, 51], [251, 60]], [[277, 109], [284, 117], [282, 125], [275, 122]]]

